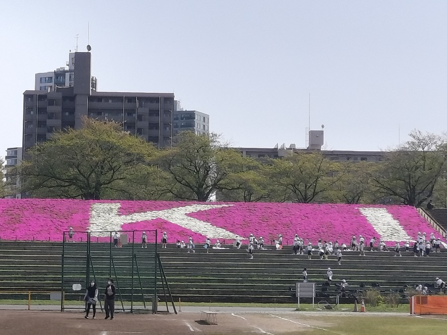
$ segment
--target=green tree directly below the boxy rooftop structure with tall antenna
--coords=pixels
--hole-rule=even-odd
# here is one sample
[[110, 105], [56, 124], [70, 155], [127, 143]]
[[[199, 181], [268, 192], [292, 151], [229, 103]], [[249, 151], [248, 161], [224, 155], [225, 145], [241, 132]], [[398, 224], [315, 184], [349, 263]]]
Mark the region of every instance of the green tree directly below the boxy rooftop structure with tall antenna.
[[343, 175], [339, 163], [317, 152], [299, 152], [271, 163], [270, 179], [283, 198], [280, 201], [327, 201], [326, 193]]

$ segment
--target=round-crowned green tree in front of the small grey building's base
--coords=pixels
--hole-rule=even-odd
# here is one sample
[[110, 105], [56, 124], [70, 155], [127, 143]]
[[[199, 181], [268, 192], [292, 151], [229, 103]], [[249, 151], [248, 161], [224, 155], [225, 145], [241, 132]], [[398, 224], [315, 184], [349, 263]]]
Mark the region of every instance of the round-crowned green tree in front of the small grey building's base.
[[240, 152], [225, 148], [217, 134], [181, 132], [161, 155], [161, 167], [170, 176], [164, 192], [179, 200], [208, 201], [228, 188], [228, 177], [239, 171], [242, 159]]

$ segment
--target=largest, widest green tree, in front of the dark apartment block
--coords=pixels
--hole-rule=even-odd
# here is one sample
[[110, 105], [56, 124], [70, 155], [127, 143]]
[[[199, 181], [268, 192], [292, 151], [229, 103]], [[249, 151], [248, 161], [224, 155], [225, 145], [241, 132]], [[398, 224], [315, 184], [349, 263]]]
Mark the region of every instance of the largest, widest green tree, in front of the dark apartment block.
[[20, 166], [23, 190], [39, 198], [143, 198], [132, 181], [153, 182], [158, 170], [150, 162], [157, 150], [121, 129], [85, 118], [81, 129], [55, 133], [32, 148], [31, 158]]

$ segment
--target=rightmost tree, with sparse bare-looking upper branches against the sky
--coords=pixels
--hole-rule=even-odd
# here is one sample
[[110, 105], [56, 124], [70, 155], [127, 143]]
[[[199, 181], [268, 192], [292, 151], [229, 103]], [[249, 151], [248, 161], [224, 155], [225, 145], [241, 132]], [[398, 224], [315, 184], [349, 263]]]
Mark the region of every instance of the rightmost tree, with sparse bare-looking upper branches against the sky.
[[435, 134], [413, 131], [411, 139], [385, 155], [372, 179], [383, 196], [421, 206], [446, 168], [446, 142]]

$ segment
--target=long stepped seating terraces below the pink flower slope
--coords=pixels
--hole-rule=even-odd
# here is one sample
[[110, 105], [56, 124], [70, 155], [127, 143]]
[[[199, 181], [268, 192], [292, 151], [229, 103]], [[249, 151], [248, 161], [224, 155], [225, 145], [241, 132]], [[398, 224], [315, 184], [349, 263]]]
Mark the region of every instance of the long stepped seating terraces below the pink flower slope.
[[[85, 243], [66, 243], [70, 256], [64, 261], [64, 282], [80, 283], [85, 286]], [[435, 277], [447, 279], [447, 252], [430, 257], [415, 258], [412, 252], [402, 252], [403, 257], [393, 257], [393, 252], [345, 252], [339, 266], [334, 256], [320, 260], [313, 256], [292, 254], [291, 247], [283, 250], [257, 250], [254, 259], [249, 260], [244, 249], [206, 250], [197, 247], [196, 253], [188, 254], [186, 249], [168, 245], [158, 248], [174, 299], [184, 302], [295, 302], [295, 283], [301, 280], [301, 271], [307, 268], [309, 281], [317, 284], [319, 296], [327, 297], [338, 293], [335, 283], [346, 279], [349, 290], [355, 292], [379, 284], [381, 291], [395, 292], [413, 284], [433, 286]], [[272, 247], [269, 247], [272, 249]], [[92, 258], [99, 287], [109, 275], [107, 243], [92, 244]], [[113, 248], [115, 268], [120, 293], [123, 299], [131, 294], [129, 259], [131, 245]], [[139, 259], [141, 279], [153, 282], [154, 247], [135, 248]], [[6, 242], [0, 243], [0, 293], [19, 291], [60, 291], [62, 243], [57, 242]], [[103, 260], [103, 262], [101, 261]], [[326, 270], [331, 268], [333, 285], [324, 287]], [[114, 276], [114, 275], [113, 275]], [[158, 273], [159, 276], [159, 273]], [[135, 284], [134, 289], [139, 286]], [[324, 287], [324, 288], [323, 288]], [[67, 299], [79, 299], [79, 294], [70, 292], [70, 285], [64, 286]], [[436, 291], [435, 288], [431, 288]], [[162, 294], [161, 281], [157, 284], [158, 294]], [[83, 292], [83, 291], [82, 291]], [[135, 292], [135, 291], [134, 291]], [[0, 299], [13, 298], [1, 294]]]

